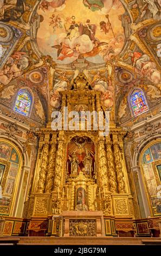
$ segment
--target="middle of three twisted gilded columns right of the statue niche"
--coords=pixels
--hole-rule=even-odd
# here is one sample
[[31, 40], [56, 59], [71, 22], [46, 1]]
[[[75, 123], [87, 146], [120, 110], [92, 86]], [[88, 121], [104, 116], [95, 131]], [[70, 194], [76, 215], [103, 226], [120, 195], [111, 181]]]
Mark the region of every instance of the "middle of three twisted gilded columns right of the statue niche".
[[111, 148], [112, 142], [110, 137], [106, 137], [106, 155], [109, 174], [110, 191], [117, 192], [117, 181], [114, 168], [113, 152]]

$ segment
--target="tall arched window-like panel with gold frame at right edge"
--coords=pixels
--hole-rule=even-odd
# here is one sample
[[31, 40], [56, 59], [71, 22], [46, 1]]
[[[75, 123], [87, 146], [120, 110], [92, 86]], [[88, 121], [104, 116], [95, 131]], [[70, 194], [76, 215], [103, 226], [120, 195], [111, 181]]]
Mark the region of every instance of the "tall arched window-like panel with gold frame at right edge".
[[142, 166], [154, 215], [161, 214], [161, 142], [144, 152]]

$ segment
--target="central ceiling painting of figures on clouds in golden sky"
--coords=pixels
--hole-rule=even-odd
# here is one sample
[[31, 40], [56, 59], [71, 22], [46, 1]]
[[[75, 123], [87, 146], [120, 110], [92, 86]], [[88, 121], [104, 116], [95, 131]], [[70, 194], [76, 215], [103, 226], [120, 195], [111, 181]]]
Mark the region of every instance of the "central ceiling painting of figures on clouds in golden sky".
[[124, 46], [119, 0], [46, 0], [37, 9], [42, 22], [37, 32], [40, 51], [57, 63], [78, 58], [104, 63]]

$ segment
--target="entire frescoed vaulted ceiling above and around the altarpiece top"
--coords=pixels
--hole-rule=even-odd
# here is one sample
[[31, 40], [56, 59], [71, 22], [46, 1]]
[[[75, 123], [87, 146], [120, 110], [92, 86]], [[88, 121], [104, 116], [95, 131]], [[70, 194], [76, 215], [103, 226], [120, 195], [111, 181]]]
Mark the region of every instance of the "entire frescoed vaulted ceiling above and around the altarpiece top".
[[132, 117], [134, 88], [145, 93], [149, 115], [157, 113], [160, 10], [161, 0], [0, 0], [1, 107], [12, 111], [18, 90], [29, 88], [31, 118], [43, 124], [83, 74], [119, 124], [147, 114]]

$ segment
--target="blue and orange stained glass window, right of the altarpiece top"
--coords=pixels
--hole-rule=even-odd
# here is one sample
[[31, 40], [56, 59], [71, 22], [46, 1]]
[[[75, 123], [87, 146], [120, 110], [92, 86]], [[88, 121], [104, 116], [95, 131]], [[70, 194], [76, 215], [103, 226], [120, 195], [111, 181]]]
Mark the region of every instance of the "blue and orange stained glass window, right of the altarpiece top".
[[132, 106], [132, 111], [134, 116], [147, 111], [148, 106], [146, 103], [144, 93], [141, 90], [135, 90], [131, 94], [130, 100], [131, 100], [131, 106]]

